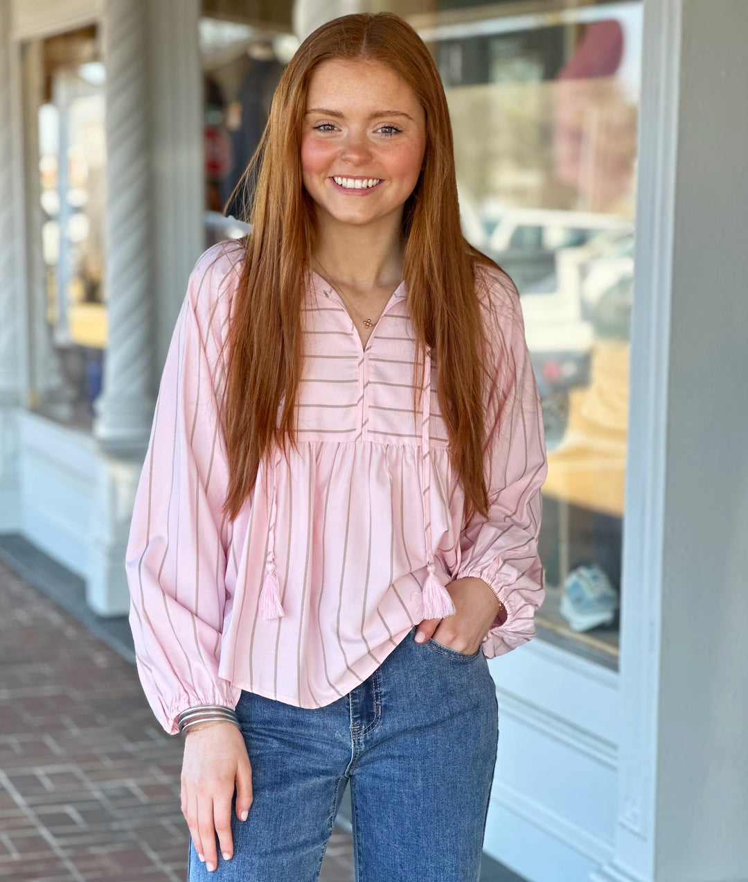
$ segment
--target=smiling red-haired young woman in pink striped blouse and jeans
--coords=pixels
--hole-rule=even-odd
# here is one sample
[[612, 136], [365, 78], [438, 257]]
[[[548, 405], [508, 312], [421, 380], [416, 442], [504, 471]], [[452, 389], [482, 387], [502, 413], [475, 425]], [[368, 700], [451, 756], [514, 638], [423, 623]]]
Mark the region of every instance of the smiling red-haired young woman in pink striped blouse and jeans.
[[311, 34], [244, 183], [251, 234], [190, 276], [127, 552], [138, 672], [185, 736], [189, 878], [317, 879], [350, 782], [359, 882], [476, 880], [486, 659], [544, 598], [544, 434], [411, 27]]

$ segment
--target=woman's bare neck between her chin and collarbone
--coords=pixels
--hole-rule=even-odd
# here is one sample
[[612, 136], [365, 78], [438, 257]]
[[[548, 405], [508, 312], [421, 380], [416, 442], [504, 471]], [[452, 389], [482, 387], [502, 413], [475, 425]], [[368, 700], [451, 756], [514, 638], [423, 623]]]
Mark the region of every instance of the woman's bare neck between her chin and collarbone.
[[[319, 221], [320, 219], [318, 219]], [[361, 294], [392, 288], [403, 280], [404, 243], [400, 224], [373, 230], [351, 224], [318, 223], [313, 269], [331, 284]]]

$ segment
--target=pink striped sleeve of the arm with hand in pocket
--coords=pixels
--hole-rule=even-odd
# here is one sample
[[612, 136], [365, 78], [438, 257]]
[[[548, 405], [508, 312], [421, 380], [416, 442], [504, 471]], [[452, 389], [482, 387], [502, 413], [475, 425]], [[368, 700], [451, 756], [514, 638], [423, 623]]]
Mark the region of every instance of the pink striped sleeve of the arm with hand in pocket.
[[547, 462], [519, 295], [506, 274], [489, 278], [488, 331], [498, 377], [486, 406], [490, 507], [487, 519], [475, 514], [463, 528], [455, 579], [483, 579], [507, 609], [507, 621], [499, 624], [497, 617], [483, 641], [485, 656], [493, 658], [535, 635], [535, 610], [545, 596], [537, 537]]

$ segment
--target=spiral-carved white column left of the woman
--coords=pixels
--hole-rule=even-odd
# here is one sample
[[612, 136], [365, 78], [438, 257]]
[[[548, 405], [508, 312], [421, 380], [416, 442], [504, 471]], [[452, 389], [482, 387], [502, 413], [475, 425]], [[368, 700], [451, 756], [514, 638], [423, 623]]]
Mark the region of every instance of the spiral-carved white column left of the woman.
[[93, 430], [108, 448], [138, 449], [148, 441], [155, 404], [147, 8], [144, 0], [104, 0], [101, 12], [108, 338]]

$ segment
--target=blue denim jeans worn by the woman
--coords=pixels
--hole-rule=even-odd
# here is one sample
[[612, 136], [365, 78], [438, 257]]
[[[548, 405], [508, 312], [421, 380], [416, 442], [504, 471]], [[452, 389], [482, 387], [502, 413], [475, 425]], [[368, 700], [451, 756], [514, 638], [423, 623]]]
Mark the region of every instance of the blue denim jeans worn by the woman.
[[350, 782], [356, 882], [478, 882], [499, 739], [482, 648], [467, 655], [416, 628], [343, 698], [296, 707], [242, 691], [236, 713], [253, 802], [234, 853], [189, 882], [316, 882]]

